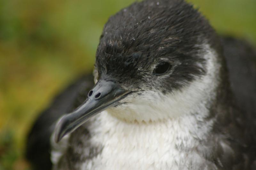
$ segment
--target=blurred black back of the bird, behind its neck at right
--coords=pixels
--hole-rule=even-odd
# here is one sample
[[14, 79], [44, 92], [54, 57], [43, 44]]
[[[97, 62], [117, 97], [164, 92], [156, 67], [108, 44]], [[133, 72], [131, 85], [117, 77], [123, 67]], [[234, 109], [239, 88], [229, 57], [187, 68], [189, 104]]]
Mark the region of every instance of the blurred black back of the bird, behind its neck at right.
[[256, 48], [232, 37], [223, 37], [222, 46], [236, 102], [256, 118]]

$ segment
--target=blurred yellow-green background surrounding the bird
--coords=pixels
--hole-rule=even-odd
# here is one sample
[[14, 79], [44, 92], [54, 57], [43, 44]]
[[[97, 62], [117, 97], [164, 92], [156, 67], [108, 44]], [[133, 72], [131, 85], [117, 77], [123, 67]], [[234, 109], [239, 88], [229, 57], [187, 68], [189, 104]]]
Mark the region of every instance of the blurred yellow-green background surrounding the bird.
[[[104, 23], [133, 0], [0, 0], [0, 170], [29, 169], [26, 135], [71, 81], [91, 72]], [[189, 0], [221, 34], [256, 44], [256, 0]]]

